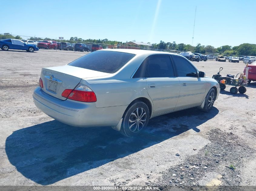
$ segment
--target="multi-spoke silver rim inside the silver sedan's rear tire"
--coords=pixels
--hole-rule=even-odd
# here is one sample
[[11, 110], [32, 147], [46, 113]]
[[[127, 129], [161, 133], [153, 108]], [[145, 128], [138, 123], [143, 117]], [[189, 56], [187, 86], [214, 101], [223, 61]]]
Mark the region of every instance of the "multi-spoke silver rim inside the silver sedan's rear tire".
[[139, 132], [146, 123], [147, 114], [142, 107], [138, 107], [129, 117], [128, 126], [131, 132]]

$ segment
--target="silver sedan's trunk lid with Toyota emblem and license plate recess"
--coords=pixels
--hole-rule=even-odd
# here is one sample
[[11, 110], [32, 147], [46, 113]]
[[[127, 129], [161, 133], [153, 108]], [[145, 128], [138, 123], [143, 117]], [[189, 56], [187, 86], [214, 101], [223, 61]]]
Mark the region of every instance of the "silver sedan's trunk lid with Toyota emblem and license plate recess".
[[82, 78], [95, 78], [108, 74], [69, 65], [42, 68], [42, 90], [53, 97], [66, 100], [67, 98], [62, 97], [62, 92], [65, 89], [74, 89]]

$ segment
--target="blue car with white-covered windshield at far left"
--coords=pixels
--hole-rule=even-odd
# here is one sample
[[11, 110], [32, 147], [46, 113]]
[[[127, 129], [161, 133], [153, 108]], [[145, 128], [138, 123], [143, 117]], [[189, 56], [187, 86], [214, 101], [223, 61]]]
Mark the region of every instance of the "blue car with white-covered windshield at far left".
[[39, 50], [39, 48], [36, 45], [27, 44], [18, 39], [0, 40], [0, 48], [5, 51], [9, 49], [26, 50], [27, 52], [30, 52], [30, 53]]

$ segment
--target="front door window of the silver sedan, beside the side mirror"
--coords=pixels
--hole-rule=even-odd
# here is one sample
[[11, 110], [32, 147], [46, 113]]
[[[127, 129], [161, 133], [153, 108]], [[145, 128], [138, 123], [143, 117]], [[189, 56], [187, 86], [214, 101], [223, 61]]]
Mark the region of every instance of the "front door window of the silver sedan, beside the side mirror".
[[180, 77], [197, 77], [196, 69], [186, 59], [180, 56], [173, 56], [173, 61]]

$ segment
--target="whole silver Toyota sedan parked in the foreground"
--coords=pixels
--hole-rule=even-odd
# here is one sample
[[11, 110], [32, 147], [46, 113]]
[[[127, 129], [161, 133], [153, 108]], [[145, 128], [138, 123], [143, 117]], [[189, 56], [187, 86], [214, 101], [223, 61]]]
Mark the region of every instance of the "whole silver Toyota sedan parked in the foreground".
[[218, 82], [183, 56], [103, 49], [68, 65], [42, 68], [33, 99], [62, 123], [112, 126], [132, 137], [156, 116], [191, 107], [210, 111], [219, 93]]

